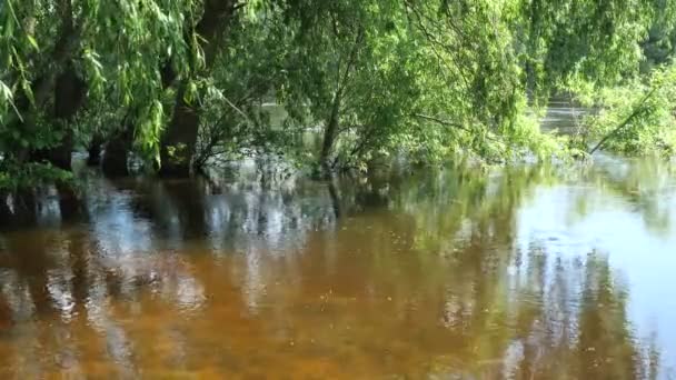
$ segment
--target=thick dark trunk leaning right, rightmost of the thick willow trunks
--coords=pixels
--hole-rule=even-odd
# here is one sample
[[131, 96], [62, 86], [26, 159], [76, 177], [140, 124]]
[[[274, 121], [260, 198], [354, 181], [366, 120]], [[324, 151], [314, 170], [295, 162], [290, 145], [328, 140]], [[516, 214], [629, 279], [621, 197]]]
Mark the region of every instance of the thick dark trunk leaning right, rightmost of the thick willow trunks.
[[[209, 70], [217, 56], [219, 39], [228, 30], [236, 11], [233, 0], [207, 0], [205, 12], [196, 27], [201, 37], [200, 48], [205, 51], [205, 70]], [[161, 177], [190, 176], [195, 144], [199, 133], [199, 110], [185, 100], [187, 81], [177, 91], [173, 117], [162, 137], [160, 147]]]

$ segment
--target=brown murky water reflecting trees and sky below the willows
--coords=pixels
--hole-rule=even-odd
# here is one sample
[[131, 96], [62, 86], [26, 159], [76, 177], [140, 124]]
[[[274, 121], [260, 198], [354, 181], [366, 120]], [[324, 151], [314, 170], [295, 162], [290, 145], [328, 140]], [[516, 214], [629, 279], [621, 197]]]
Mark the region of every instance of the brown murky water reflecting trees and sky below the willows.
[[0, 379], [676, 376], [667, 163], [81, 176], [0, 232]]

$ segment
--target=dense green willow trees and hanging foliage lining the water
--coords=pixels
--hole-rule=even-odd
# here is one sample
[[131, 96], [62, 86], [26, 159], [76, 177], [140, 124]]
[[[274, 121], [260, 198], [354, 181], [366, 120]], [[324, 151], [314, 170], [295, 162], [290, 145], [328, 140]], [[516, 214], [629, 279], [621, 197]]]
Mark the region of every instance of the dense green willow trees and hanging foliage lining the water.
[[[121, 172], [133, 152], [179, 176], [261, 152], [328, 173], [394, 154], [546, 159], [598, 141], [670, 151], [675, 9], [674, 0], [4, 0], [0, 189], [67, 179], [72, 150], [90, 144], [108, 147], [110, 160], [122, 154]], [[570, 143], [539, 131], [538, 108], [556, 92], [599, 110]], [[316, 149], [308, 132], [321, 139]]]

